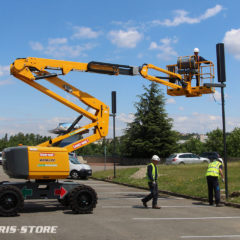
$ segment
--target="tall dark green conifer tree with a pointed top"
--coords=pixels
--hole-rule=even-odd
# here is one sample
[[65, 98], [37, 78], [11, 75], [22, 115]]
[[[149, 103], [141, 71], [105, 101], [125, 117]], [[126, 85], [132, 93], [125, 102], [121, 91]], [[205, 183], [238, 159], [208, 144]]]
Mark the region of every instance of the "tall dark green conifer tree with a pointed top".
[[172, 131], [172, 119], [165, 111], [165, 97], [156, 83], [144, 86], [135, 103], [134, 121], [128, 124], [122, 151], [129, 157], [166, 157], [177, 149], [178, 135]]

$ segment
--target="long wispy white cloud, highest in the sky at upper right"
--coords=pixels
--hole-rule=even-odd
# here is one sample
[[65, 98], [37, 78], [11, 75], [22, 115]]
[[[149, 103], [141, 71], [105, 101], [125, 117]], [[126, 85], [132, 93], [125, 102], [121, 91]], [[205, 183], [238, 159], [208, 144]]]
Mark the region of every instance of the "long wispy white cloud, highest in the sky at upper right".
[[180, 24], [196, 24], [200, 23], [203, 20], [206, 20], [210, 17], [213, 17], [220, 13], [223, 10], [221, 5], [216, 5], [213, 8], [208, 8], [202, 15], [199, 17], [189, 17], [189, 13], [185, 10], [175, 10], [174, 15], [176, 15], [173, 20], [165, 19], [164, 21], [154, 20], [152, 23], [154, 25], [163, 25], [167, 27], [178, 26]]

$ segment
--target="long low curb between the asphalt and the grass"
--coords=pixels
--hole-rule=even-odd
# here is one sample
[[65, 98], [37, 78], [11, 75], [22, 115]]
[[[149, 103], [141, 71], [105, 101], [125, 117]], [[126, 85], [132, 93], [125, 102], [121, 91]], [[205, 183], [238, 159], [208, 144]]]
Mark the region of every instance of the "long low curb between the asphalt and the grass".
[[[133, 188], [138, 188], [138, 189], [143, 189], [143, 190], [149, 190], [146, 187], [138, 187], [138, 186], [135, 186], [135, 185], [114, 182], [114, 181], [107, 180], [107, 179], [100, 179], [100, 178], [94, 178], [94, 177], [91, 177], [91, 179], [102, 181], [102, 182], [109, 182], [109, 183], [113, 183], [113, 184], [118, 184], [118, 185], [122, 185], [122, 186], [126, 186], [126, 187], [133, 187]], [[189, 195], [185, 195], [185, 194], [165, 191], [165, 190], [158, 190], [158, 192], [162, 193], [162, 194], [165, 194], [165, 195], [174, 196], [174, 197], [182, 197], [182, 198], [186, 198], [186, 199], [193, 199], [193, 200], [198, 200], [198, 201], [202, 201], [202, 202], [208, 202], [207, 198], [194, 197], [194, 196], [189, 196]], [[238, 204], [238, 203], [230, 203], [230, 202], [221, 202], [221, 203], [224, 204], [225, 206], [228, 206], [228, 207], [240, 208], [240, 204]]]

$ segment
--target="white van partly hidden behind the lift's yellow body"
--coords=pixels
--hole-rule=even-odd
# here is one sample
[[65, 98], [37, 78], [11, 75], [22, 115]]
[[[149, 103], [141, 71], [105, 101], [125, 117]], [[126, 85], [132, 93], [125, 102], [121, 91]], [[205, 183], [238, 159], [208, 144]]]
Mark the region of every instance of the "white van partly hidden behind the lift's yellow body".
[[92, 169], [89, 165], [80, 163], [75, 153], [69, 153], [70, 172], [73, 179], [88, 179], [92, 176]]

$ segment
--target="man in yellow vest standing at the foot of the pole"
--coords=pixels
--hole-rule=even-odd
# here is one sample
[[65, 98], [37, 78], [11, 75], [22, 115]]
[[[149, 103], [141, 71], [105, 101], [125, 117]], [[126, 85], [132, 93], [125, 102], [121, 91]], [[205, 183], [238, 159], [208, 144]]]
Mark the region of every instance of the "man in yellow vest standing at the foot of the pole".
[[213, 162], [209, 163], [208, 170], [206, 173], [207, 184], [208, 184], [208, 201], [209, 205], [213, 205], [213, 191], [215, 194], [215, 203], [216, 207], [220, 207], [220, 187], [218, 179], [222, 178], [222, 182], [224, 182], [223, 176], [223, 160], [221, 158], [215, 159]]

